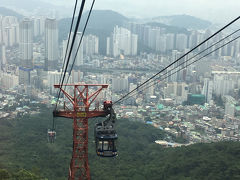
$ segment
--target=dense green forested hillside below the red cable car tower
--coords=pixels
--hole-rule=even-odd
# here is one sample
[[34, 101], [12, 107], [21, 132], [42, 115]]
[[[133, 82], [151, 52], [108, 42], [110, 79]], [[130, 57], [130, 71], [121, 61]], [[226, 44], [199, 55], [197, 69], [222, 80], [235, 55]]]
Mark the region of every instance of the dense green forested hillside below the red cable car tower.
[[[16, 178], [17, 174], [30, 174], [28, 179], [67, 179], [72, 151], [72, 120], [57, 119], [57, 139], [54, 144], [49, 144], [47, 128], [51, 120], [51, 111], [47, 108], [42, 108], [38, 115], [0, 119], [0, 179], [4, 179], [1, 178], [4, 173], [15, 179], [21, 179]], [[95, 155], [93, 142], [96, 121], [89, 122], [92, 179], [240, 179], [239, 142], [164, 149], [154, 143], [166, 136], [162, 131], [136, 121], [119, 119], [119, 156], [100, 158]]]

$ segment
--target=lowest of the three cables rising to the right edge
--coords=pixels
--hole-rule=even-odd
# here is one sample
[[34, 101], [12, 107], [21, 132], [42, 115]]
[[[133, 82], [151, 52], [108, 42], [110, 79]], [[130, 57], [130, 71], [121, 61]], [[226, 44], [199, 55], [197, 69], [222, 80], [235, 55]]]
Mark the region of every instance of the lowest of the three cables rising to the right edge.
[[[235, 41], [235, 40], [237, 40], [238, 38], [240, 38], [240, 36], [237, 36], [236, 38], [232, 39], [231, 41], [229, 41], [229, 42], [227, 42], [227, 43], [219, 46], [218, 48], [216, 48], [216, 49], [212, 50], [211, 52], [205, 54], [204, 56], [200, 57], [199, 59], [196, 59], [195, 61], [191, 62], [190, 64], [187, 64], [186, 66], [181, 67], [181, 68], [178, 69], [177, 71], [175, 71], [175, 72], [173, 72], [173, 73], [171, 73], [171, 74], [169, 74], [169, 75], [167, 75], [167, 76], [165, 76], [165, 77], [163, 77], [163, 78], [161, 78], [161, 79], [158, 79], [158, 81], [162, 81], [162, 80], [167, 79], [168, 77], [172, 76], [173, 74], [178, 73], [179, 71], [181, 71], [181, 70], [185, 69], [186, 67], [194, 64], [195, 62], [197, 62], [197, 61], [205, 58], [206, 56], [210, 55], [211, 53], [213, 53], [213, 52], [215, 52], [215, 51], [217, 51], [217, 50], [219, 50], [219, 49], [221, 49], [222, 47], [228, 45], [229, 43], [231, 43], [231, 42], [233, 42], [233, 41]], [[177, 69], [177, 68], [173, 68], [172, 70], [174, 70], [174, 69]], [[172, 70], [170, 70], [170, 71], [172, 71]], [[140, 92], [142, 92], [142, 91], [144, 91], [144, 90], [146, 90], [146, 89], [154, 86], [155, 84], [158, 84], [158, 83], [159, 83], [158, 81], [155, 81], [152, 85], [149, 85], [149, 86], [145, 87], [144, 89], [141, 89]], [[135, 96], [135, 95], [137, 95], [138, 93], [139, 93], [139, 92], [136, 92], [135, 94], [133, 94], [133, 95], [131, 95], [131, 96], [128, 96], [126, 99], [129, 99], [130, 97]], [[124, 100], [126, 100], [126, 99], [124, 99]], [[122, 100], [122, 101], [123, 101], [123, 100]], [[119, 101], [119, 102], [122, 102], [122, 101]]]

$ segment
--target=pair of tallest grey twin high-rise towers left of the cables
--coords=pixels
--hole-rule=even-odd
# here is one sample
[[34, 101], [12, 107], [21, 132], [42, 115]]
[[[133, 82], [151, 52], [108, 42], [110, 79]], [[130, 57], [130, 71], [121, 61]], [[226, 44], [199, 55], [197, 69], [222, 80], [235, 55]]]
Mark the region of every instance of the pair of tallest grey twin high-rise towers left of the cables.
[[[44, 69], [54, 70], [58, 68], [58, 28], [56, 19], [45, 19], [45, 56]], [[36, 30], [37, 32], [35, 32]], [[42, 21], [25, 18], [19, 23], [19, 84], [30, 85], [30, 73], [34, 68], [33, 39], [34, 35], [41, 35], [43, 32]]]

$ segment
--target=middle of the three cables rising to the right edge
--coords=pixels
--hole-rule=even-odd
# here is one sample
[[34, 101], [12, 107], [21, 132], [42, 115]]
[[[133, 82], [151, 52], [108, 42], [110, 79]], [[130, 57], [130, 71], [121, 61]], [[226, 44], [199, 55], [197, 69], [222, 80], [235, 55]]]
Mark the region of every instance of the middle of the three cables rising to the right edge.
[[[181, 65], [183, 65], [184, 63], [186, 63], [186, 62], [192, 60], [193, 58], [197, 57], [198, 55], [202, 54], [203, 52], [209, 50], [210, 48], [216, 46], [216, 45], [219, 44], [220, 42], [226, 40], [227, 38], [231, 37], [232, 35], [236, 34], [236, 33], [239, 32], [239, 31], [240, 31], [240, 29], [237, 29], [236, 31], [232, 32], [231, 34], [227, 35], [226, 37], [220, 39], [218, 42], [212, 44], [211, 46], [207, 47], [206, 49], [200, 51], [199, 53], [195, 54], [195, 55], [192, 56], [191, 58], [189, 58], [189, 59], [187, 59], [186, 61], [182, 62], [181, 64], [178, 65], [178, 67], [181, 66]], [[174, 68], [171, 69], [170, 71], [172, 71], [172, 70], [174, 70], [174, 69], [177, 69], [178, 67], [174, 67]], [[166, 70], [166, 71], [167, 71], [167, 70]], [[165, 72], [165, 73], [162, 74], [162, 75], [159, 74], [159, 76], [160, 76], [160, 75], [161, 75], [161, 76], [164, 76], [164, 75], [166, 75], [166, 74], [168, 74], [168, 73], [169, 73], [169, 71]], [[147, 85], [150, 84], [151, 82], [155, 81], [156, 79], [159, 79], [159, 77], [155, 77], [154, 79], [152, 79], [152, 81], [149, 81], [147, 84], [145, 84], [145, 85], [142, 86], [141, 88], [144, 88], [145, 86], [147, 86]], [[139, 89], [141, 89], [141, 88], [138, 88], [137, 90], [139, 90]], [[134, 92], [132, 92], [132, 93], [134, 93]], [[129, 95], [130, 95], [130, 94], [129, 94]], [[120, 101], [120, 102], [121, 102], [121, 101]]]

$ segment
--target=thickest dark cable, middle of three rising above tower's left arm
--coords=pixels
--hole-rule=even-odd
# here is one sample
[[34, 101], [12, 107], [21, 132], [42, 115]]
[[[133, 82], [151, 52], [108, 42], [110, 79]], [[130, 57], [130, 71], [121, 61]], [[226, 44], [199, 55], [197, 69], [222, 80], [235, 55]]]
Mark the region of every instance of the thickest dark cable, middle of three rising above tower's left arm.
[[[82, 4], [81, 4], [81, 7], [80, 7], [80, 11], [79, 11], [79, 14], [78, 14], [77, 23], [76, 23], [76, 26], [75, 26], [75, 30], [74, 30], [74, 34], [73, 34], [73, 38], [72, 38], [72, 42], [71, 42], [71, 46], [70, 46], [70, 50], [69, 50], [69, 53], [68, 53], [68, 58], [67, 58], [67, 62], [66, 62], [66, 66], [65, 66], [65, 70], [64, 70], [62, 82], [61, 82], [61, 84], [60, 84], [60, 89], [62, 88], [64, 79], [65, 79], [65, 76], [66, 76], [66, 73], [67, 73], [67, 68], [68, 68], [68, 65], [69, 65], [71, 53], [72, 53], [72, 50], [73, 50], [73, 45], [74, 45], [74, 42], [75, 42], [75, 39], [76, 39], [78, 27], [79, 27], [80, 20], [81, 20], [81, 17], [82, 17], [84, 5], [85, 5], [85, 0], [82, 0]], [[59, 101], [60, 93], [61, 93], [61, 90], [59, 90], [59, 93], [58, 93], [58, 99], [57, 99], [57, 103], [56, 103], [56, 108], [57, 108], [57, 104], [58, 104], [58, 101]]]

